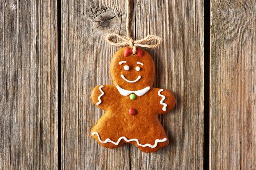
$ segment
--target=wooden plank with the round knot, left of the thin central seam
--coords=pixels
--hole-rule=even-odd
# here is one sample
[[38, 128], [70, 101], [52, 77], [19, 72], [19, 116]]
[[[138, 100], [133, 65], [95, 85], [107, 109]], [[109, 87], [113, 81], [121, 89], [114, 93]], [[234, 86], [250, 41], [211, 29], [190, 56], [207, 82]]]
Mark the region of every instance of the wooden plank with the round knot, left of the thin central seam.
[[[124, 4], [116, 0], [62, 0], [61, 8], [62, 168], [130, 169], [129, 145], [106, 149], [90, 136], [104, 113], [92, 103], [91, 91], [97, 85], [112, 84], [110, 60], [118, 49], [107, 44], [104, 33], [124, 31]], [[115, 15], [118, 24], [108, 20]], [[106, 19], [101, 26], [97, 22], [100, 16]]]

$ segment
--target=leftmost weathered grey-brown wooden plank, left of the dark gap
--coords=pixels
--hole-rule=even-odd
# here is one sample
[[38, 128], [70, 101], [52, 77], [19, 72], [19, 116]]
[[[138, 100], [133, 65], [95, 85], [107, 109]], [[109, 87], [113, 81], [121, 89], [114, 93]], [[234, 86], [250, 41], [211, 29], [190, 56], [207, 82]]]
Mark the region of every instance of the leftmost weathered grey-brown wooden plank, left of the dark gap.
[[56, 6], [0, 1], [0, 169], [58, 169]]

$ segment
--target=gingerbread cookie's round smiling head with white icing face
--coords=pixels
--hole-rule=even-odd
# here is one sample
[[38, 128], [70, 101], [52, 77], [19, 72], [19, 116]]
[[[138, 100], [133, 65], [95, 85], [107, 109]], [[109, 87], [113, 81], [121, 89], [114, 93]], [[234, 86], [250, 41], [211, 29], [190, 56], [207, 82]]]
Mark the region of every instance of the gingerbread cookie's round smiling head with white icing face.
[[155, 68], [147, 51], [137, 48], [136, 54], [133, 54], [130, 47], [124, 47], [114, 54], [110, 72], [114, 85], [127, 90], [140, 90], [152, 87]]

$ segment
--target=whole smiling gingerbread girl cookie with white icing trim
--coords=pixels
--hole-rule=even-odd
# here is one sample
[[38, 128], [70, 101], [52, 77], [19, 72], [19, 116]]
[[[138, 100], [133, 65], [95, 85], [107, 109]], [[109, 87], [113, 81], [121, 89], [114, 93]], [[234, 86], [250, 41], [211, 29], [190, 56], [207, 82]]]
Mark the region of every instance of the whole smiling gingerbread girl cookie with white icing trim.
[[106, 113], [93, 126], [91, 136], [107, 148], [131, 143], [143, 152], [155, 152], [169, 143], [158, 114], [175, 105], [172, 92], [153, 88], [154, 62], [140, 48], [118, 50], [111, 61], [113, 85], [97, 86], [92, 101]]

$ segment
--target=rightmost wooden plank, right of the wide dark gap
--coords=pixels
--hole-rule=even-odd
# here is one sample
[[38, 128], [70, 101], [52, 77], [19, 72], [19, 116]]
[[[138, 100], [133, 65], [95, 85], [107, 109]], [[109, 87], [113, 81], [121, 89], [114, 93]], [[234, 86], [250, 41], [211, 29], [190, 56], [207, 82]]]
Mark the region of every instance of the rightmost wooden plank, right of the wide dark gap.
[[210, 168], [256, 167], [256, 1], [212, 0]]

